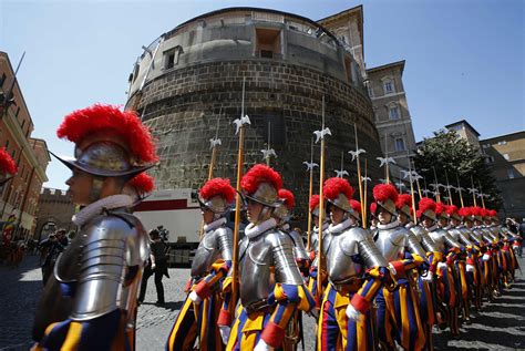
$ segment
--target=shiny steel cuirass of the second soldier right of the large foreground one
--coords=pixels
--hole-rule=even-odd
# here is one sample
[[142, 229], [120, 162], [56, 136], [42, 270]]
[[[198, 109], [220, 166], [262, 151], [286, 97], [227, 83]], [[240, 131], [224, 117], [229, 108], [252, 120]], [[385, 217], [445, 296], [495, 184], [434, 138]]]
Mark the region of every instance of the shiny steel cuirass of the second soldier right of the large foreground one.
[[268, 299], [276, 282], [302, 285], [291, 238], [275, 228], [239, 244], [240, 302], [250, 308]]

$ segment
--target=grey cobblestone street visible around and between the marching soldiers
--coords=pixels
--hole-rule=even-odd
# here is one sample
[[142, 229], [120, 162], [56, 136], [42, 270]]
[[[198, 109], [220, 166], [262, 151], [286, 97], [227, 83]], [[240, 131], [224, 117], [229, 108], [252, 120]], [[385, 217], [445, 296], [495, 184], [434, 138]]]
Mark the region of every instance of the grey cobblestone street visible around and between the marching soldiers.
[[[521, 265], [525, 261], [521, 259]], [[169, 269], [164, 279], [167, 303], [156, 301], [153, 278], [147, 286], [144, 304], [138, 311], [137, 350], [163, 350], [167, 334], [185, 298], [184, 286], [188, 269]], [[18, 269], [0, 267], [0, 350], [28, 350], [35, 306], [42, 290], [38, 259], [29, 256]], [[493, 303], [485, 303], [482, 312], [473, 312], [472, 324], [461, 328], [457, 340], [447, 331], [435, 334], [437, 350], [515, 350], [525, 349], [525, 279], [517, 273], [513, 288]], [[313, 350], [313, 319], [305, 317], [305, 350]], [[299, 348], [300, 349], [300, 348]]]

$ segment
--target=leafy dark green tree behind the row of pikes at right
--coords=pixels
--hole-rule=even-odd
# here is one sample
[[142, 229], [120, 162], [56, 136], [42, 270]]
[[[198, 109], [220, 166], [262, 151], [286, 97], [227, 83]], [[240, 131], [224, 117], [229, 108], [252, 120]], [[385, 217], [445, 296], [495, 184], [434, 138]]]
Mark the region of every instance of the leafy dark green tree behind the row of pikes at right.
[[[496, 180], [491, 175], [484, 156], [480, 149], [453, 131], [434, 132], [434, 137], [423, 140], [414, 157], [414, 164], [418, 173], [424, 177], [423, 183], [428, 185], [435, 183], [435, 177], [437, 183], [446, 185], [447, 177], [449, 184], [457, 187], [459, 179], [461, 187], [464, 188], [462, 195], [465, 206], [474, 205], [472, 193], [467, 190], [473, 184], [485, 195], [483, 200], [487, 208], [498, 209], [502, 205]], [[442, 197], [449, 196], [446, 189], [441, 188], [440, 193]], [[459, 192], [451, 189], [451, 194], [453, 204], [460, 206]], [[477, 206], [482, 206], [482, 198], [476, 197], [476, 203]]]

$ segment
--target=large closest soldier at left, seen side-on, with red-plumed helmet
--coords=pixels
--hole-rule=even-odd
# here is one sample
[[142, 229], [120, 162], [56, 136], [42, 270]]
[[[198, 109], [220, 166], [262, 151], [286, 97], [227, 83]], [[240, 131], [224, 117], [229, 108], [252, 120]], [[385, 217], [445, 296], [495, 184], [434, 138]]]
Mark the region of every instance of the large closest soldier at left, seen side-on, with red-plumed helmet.
[[157, 161], [155, 145], [135, 113], [101, 104], [66, 115], [58, 136], [75, 143], [75, 158], [55, 157], [72, 169], [72, 202], [84, 207], [37, 310], [34, 350], [132, 350], [150, 248], [123, 187]]

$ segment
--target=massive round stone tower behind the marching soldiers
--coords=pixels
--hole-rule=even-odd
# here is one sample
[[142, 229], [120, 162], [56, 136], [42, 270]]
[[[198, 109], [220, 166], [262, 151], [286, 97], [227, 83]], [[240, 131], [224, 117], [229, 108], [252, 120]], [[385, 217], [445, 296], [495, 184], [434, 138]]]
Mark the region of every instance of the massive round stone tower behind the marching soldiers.
[[[246, 80], [245, 171], [270, 165], [294, 192], [297, 219], [305, 217], [313, 131], [321, 128], [326, 100], [326, 177], [349, 172], [357, 188], [354, 125], [359, 147], [367, 153], [368, 175], [381, 177], [381, 156], [374, 114], [361, 70], [348, 45], [319, 23], [300, 16], [255, 8], [230, 8], [194, 18], [155, 40], [138, 58], [130, 75], [126, 109], [134, 109], [157, 138], [161, 165], [152, 171], [157, 188], [198, 188], [208, 176], [209, 140], [218, 136], [214, 176], [235, 184], [238, 140], [233, 121], [240, 116]], [[362, 158], [362, 169], [364, 162]], [[319, 146], [313, 147], [319, 163]], [[364, 171], [363, 171], [364, 172]], [[315, 188], [318, 188], [316, 169]], [[317, 193], [317, 192], [315, 192]], [[354, 198], [359, 198], [358, 195]], [[369, 197], [370, 198], [370, 197]]]

